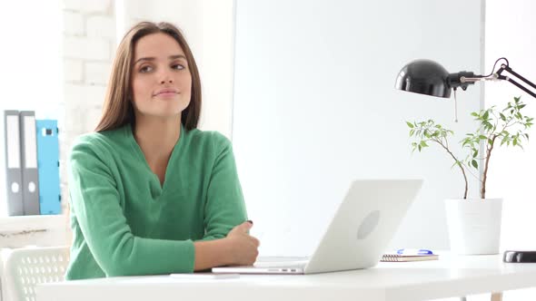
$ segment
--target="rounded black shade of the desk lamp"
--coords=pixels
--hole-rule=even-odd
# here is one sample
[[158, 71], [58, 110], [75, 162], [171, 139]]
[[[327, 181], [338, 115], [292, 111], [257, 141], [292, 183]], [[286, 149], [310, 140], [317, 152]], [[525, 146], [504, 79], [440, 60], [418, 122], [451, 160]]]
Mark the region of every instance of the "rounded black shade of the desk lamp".
[[451, 97], [451, 87], [447, 83], [449, 73], [439, 63], [430, 60], [416, 60], [406, 64], [396, 78], [395, 88], [407, 92]]

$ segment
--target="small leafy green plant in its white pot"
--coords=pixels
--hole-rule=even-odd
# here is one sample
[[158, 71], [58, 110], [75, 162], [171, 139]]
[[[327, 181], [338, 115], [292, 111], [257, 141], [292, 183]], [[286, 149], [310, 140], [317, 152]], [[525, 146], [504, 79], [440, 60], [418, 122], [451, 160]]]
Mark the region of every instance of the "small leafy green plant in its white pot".
[[[533, 118], [524, 116], [525, 104], [514, 97], [499, 111], [496, 106], [480, 112], [471, 112], [478, 129], [467, 133], [460, 141], [463, 159], [449, 146], [453, 131], [435, 121], [406, 121], [412, 137], [412, 149], [422, 151], [430, 145], [439, 145], [452, 158], [452, 167], [460, 170], [465, 183], [462, 199], [445, 200], [451, 249], [458, 254], [497, 254], [501, 235], [502, 199], [486, 199], [486, 182], [492, 151], [498, 146], [520, 147], [529, 140], [527, 130]], [[479, 170], [481, 167], [481, 170]], [[468, 199], [468, 176], [480, 183], [480, 198]]]

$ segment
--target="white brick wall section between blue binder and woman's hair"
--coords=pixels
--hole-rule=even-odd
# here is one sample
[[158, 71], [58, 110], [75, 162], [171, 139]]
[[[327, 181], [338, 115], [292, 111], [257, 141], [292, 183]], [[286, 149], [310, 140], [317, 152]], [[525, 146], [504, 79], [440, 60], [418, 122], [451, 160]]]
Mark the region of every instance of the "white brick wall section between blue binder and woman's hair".
[[64, 102], [60, 122], [62, 199], [68, 203], [67, 164], [74, 139], [99, 120], [115, 51], [111, 0], [64, 0]]

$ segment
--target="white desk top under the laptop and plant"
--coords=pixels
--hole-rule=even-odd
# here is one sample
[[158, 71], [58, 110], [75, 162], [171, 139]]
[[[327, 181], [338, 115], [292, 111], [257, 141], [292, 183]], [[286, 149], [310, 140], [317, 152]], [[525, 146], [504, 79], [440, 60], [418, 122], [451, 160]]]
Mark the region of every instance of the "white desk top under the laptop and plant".
[[308, 276], [176, 279], [111, 277], [37, 286], [37, 301], [107, 300], [366, 300], [414, 301], [536, 286], [536, 264], [501, 256], [442, 256], [436, 261]]

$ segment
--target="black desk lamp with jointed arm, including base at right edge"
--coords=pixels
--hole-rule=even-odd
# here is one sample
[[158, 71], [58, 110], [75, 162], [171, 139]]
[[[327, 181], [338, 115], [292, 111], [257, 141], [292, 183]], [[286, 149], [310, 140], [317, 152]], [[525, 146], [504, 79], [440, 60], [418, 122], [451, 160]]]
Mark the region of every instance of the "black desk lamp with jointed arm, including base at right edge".
[[[501, 63], [501, 67], [495, 71], [497, 63]], [[491, 73], [488, 75], [476, 75], [471, 72], [462, 71], [459, 73], [448, 73], [445, 68], [439, 63], [430, 60], [415, 60], [406, 64], [398, 76], [396, 77], [395, 88], [407, 92], [415, 92], [425, 95], [431, 95], [442, 98], [451, 97], [451, 89], [454, 92], [458, 88], [463, 91], [467, 90], [470, 84], [480, 81], [508, 81], [522, 91], [529, 93], [536, 98], [536, 93], [516, 82], [511, 77], [502, 73], [511, 73], [521, 80], [522, 83], [528, 84], [532, 89], [536, 90], [536, 84], [522, 77], [520, 74], [511, 70], [508, 60], [501, 57], [493, 65]], [[505, 262], [536, 262], [536, 251], [505, 251], [503, 256]]]

